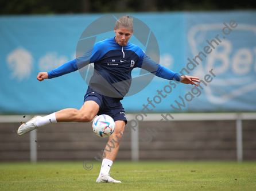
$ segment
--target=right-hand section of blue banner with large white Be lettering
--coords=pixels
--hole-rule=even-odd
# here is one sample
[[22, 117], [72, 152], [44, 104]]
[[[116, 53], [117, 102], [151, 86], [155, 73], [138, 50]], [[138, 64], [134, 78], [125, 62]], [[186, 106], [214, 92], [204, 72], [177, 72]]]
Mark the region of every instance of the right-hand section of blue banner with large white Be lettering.
[[[201, 60], [196, 58], [199, 65], [196, 64], [189, 75], [204, 79], [205, 75], [210, 74], [210, 70], [215, 75], [207, 86], [202, 84], [204, 89], [200, 89], [201, 95], [189, 102], [188, 110], [256, 110], [254, 18], [255, 11], [186, 14], [185, 58], [195, 59], [201, 52]], [[192, 65], [190, 66], [192, 68]]]

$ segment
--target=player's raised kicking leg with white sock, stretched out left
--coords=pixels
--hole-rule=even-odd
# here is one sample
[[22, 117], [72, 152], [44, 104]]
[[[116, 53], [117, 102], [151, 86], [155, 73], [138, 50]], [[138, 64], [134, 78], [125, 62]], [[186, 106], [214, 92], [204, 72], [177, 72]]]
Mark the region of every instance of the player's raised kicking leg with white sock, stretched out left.
[[67, 108], [46, 116], [34, 116], [28, 122], [21, 124], [18, 135], [24, 135], [38, 127], [57, 122], [90, 122], [99, 111], [99, 105], [94, 101], [84, 102], [80, 110]]

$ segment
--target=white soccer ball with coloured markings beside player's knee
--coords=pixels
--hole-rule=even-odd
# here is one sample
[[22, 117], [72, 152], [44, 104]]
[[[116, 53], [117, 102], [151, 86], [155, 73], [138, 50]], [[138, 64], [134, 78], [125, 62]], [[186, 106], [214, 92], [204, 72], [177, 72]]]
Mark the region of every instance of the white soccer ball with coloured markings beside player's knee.
[[109, 137], [115, 130], [115, 122], [111, 116], [99, 115], [92, 122], [92, 130], [99, 137]]

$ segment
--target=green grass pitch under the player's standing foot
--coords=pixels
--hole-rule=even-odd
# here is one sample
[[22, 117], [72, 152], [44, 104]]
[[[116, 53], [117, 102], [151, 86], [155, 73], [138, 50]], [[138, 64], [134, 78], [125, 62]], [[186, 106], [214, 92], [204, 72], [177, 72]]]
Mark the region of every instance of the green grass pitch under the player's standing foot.
[[1, 162], [0, 190], [256, 190], [256, 162], [116, 161], [111, 177], [122, 184], [95, 183], [101, 163], [92, 163]]

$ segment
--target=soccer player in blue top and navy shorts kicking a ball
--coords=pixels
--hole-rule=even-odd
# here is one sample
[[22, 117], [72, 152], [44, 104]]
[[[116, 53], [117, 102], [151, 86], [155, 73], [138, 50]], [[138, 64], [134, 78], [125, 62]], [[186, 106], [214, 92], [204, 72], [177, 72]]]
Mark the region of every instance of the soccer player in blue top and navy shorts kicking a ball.
[[[107, 114], [115, 121], [115, 131], [108, 139], [115, 140], [114, 149], [106, 151], [103, 157], [99, 177], [96, 182], [114, 182], [109, 176], [110, 168], [117, 156], [120, 142], [116, 135], [123, 134], [127, 119], [125, 110], [120, 102], [129, 91], [131, 71], [133, 68], [145, 68], [158, 77], [177, 80], [184, 84], [197, 85], [198, 77], [180, 76], [151, 60], [138, 46], [129, 42], [133, 35], [133, 20], [127, 16], [119, 18], [114, 27], [115, 37], [97, 42], [87, 53], [78, 59], [69, 61], [50, 72], [38, 73], [37, 80], [52, 79], [70, 72], [77, 71], [83, 66], [94, 63], [94, 75], [90, 79], [84, 104], [77, 110], [66, 108], [46, 116], [34, 116], [33, 119], [18, 128], [18, 135], [24, 135], [38, 127], [49, 123], [59, 122], [91, 122], [96, 115]], [[197, 85], [198, 86], [198, 85]]]

